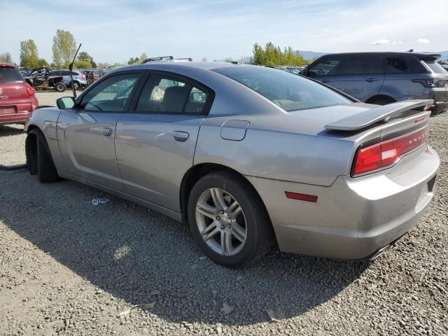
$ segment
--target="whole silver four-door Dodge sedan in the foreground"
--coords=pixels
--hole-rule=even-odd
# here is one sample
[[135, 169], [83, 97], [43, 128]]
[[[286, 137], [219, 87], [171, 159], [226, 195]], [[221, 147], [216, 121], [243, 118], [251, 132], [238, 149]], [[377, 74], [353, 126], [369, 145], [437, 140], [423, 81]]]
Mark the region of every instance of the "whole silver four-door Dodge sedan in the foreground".
[[260, 66], [141, 64], [36, 109], [27, 162], [42, 182], [79, 181], [189, 223], [204, 253], [227, 267], [275, 242], [372, 259], [433, 197], [431, 104], [362, 104]]

